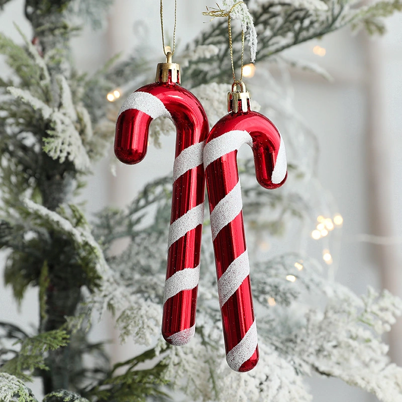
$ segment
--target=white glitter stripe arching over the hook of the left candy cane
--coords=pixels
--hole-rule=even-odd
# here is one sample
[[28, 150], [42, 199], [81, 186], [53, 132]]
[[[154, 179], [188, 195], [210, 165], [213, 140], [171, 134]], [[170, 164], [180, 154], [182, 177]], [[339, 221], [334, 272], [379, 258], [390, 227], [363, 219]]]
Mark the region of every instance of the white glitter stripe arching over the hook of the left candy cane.
[[168, 117], [169, 119], [172, 118], [162, 101], [148, 92], [140, 91], [131, 93], [124, 101], [119, 116], [129, 109], [139, 110], [140, 112], [149, 115], [152, 119], [161, 116]]

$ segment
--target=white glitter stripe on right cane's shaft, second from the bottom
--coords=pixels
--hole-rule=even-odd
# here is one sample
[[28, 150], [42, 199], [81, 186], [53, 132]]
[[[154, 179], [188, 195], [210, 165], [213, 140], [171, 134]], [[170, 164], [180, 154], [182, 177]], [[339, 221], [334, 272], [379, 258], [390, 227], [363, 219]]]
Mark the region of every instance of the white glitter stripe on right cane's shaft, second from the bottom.
[[218, 281], [219, 306], [228, 301], [229, 297], [239, 288], [250, 273], [247, 250], [239, 255], [226, 269]]

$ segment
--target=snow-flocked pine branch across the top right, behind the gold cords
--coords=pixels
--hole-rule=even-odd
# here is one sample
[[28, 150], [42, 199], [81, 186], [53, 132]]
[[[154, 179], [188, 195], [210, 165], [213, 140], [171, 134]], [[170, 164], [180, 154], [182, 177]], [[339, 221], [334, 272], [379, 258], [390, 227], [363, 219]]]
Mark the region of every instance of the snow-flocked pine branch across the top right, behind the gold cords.
[[[231, 2], [230, 4], [232, 4]], [[258, 34], [257, 61], [263, 61], [291, 46], [321, 38], [350, 25], [357, 30], [366, 28], [369, 33], [383, 33], [383, 17], [402, 10], [400, 0], [379, 1], [364, 6], [355, 1], [258, 1], [250, 7]], [[230, 55], [227, 23], [211, 23], [188, 49], [197, 46], [216, 46], [217, 54], [209, 58], [191, 60], [183, 79], [191, 86], [211, 81], [230, 81]], [[233, 37], [235, 54], [240, 55], [241, 34]], [[240, 68], [240, 57], [235, 57], [235, 67]]]

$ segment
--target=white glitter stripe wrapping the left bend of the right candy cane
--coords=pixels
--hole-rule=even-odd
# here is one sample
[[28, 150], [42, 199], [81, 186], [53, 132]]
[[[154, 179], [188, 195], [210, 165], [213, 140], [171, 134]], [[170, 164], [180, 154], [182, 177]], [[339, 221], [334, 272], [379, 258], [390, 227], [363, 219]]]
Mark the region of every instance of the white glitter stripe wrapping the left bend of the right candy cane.
[[233, 130], [214, 138], [204, 148], [204, 168], [229, 152], [238, 150], [243, 144], [253, 145], [253, 139], [245, 130]]

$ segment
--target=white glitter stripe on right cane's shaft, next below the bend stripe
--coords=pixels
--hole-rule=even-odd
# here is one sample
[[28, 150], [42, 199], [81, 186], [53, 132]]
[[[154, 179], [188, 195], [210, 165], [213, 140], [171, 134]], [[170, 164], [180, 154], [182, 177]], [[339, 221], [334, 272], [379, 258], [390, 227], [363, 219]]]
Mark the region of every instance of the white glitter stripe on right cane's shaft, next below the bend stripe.
[[229, 223], [232, 222], [243, 208], [240, 180], [228, 194], [226, 194], [211, 212], [212, 240]]

